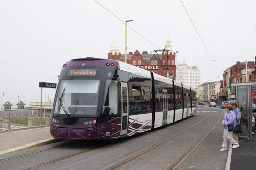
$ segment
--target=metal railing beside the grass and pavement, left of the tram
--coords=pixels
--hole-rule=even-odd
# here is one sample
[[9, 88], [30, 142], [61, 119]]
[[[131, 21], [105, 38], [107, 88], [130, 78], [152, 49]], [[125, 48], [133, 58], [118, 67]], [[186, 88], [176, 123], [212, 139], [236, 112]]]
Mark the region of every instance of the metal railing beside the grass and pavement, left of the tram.
[[1, 110], [0, 132], [49, 126], [51, 121], [51, 111], [52, 109], [42, 109], [41, 113], [40, 108]]

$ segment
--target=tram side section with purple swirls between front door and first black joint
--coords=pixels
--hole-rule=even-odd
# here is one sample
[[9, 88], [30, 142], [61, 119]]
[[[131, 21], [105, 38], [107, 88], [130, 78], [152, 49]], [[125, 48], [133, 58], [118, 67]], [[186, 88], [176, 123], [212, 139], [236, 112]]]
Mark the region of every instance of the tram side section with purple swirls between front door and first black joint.
[[129, 120], [127, 136], [151, 130], [152, 87], [151, 79], [129, 74]]

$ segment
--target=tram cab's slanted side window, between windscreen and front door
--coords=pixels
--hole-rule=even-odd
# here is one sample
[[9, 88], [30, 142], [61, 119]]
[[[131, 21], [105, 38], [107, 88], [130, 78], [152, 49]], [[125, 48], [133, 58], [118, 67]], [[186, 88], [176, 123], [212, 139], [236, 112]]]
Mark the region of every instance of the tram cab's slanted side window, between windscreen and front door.
[[107, 79], [106, 87], [104, 90], [104, 106], [102, 110], [103, 115], [116, 115], [117, 114], [117, 80]]

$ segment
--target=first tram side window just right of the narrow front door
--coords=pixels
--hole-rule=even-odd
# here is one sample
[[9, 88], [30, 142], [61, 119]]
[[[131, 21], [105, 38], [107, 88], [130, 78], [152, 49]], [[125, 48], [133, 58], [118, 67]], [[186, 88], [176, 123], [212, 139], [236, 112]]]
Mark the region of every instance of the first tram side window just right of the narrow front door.
[[132, 111], [141, 111], [141, 87], [132, 85]]

